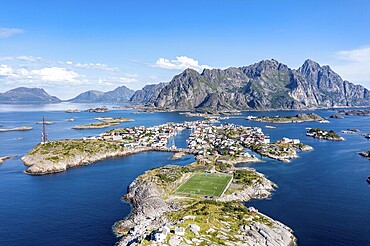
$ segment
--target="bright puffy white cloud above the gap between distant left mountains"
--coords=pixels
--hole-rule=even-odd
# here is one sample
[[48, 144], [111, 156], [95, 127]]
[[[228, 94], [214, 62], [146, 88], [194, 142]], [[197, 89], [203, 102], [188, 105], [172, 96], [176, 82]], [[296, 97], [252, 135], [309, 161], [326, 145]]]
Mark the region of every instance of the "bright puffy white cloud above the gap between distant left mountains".
[[32, 74], [38, 76], [43, 81], [54, 82], [77, 82], [79, 74], [62, 67], [48, 67], [39, 70], [32, 70]]

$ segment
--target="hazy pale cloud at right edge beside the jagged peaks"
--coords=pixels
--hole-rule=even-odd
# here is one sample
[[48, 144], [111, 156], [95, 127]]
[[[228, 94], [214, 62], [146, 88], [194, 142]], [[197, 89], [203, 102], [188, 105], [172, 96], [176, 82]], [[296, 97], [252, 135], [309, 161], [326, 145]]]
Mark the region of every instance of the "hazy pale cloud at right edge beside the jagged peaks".
[[345, 80], [370, 87], [370, 46], [335, 53], [331, 67]]

